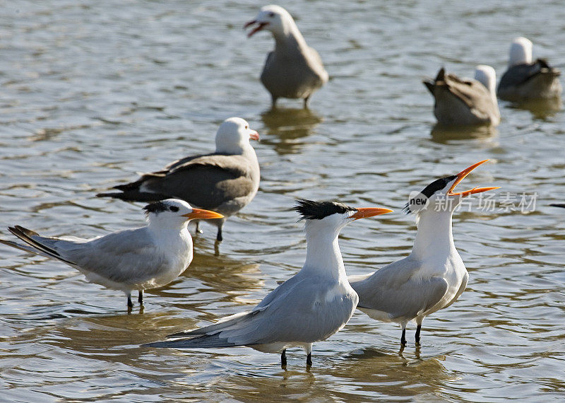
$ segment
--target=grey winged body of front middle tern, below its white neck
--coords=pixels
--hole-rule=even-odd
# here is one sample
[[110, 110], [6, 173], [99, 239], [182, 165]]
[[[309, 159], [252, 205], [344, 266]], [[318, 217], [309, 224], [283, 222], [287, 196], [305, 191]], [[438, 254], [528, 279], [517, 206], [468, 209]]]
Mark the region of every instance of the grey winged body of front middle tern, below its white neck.
[[[297, 276], [268, 294], [251, 312], [227, 317], [215, 325], [171, 337], [197, 336], [149, 344], [156, 347], [208, 348], [272, 343], [313, 343], [330, 337], [350, 319], [355, 293], [335, 294], [335, 283]], [[328, 293], [332, 298], [328, 298]], [[268, 302], [267, 302], [268, 301]]]

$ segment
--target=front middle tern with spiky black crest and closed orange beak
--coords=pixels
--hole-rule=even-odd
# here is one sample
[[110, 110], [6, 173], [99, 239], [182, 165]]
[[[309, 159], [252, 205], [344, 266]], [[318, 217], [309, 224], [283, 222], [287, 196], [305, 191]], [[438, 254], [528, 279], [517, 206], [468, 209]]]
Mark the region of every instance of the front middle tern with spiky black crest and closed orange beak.
[[248, 312], [225, 317], [215, 325], [167, 336], [175, 340], [143, 346], [175, 349], [249, 346], [266, 353], [280, 353], [283, 367], [287, 363], [286, 349], [300, 346], [307, 353], [307, 366], [311, 366], [312, 344], [344, 327], [357, 306], [357, 294], [347, 281], [338, 245], [340, 230], [359, 218], [392, 210], [355, 209], [341, 203], [305, 199], [297, 201], [296, 210], [306, 222], [307, 251], [302, 270]]

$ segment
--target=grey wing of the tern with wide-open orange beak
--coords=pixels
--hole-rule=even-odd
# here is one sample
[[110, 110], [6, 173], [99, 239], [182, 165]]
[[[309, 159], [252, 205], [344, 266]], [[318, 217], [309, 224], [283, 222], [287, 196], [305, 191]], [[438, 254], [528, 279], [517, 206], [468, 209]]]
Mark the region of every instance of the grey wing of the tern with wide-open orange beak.
[[441, 277], [415, 278], [419, 268], [419, 263], [409, 256], [364, 279], [350, 278], [359, 295], [357, 307], [388, 313], [391, 319], [412, 319], [432, 308], [444, 297], [448, 284]]

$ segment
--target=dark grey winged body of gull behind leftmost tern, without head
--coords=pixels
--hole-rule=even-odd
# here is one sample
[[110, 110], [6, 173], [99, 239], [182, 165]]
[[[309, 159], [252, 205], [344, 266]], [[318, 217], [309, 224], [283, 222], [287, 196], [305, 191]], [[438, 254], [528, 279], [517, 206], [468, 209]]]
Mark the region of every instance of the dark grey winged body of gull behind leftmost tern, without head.
[[121, 194], [106, 195], [139, 201], [175, 197], [194, 206], [215, 209], [256, 192], [258, 176], [254, 162], [244, 156], [210, 154], [176, 161], [167, 170], [117, 186]]

